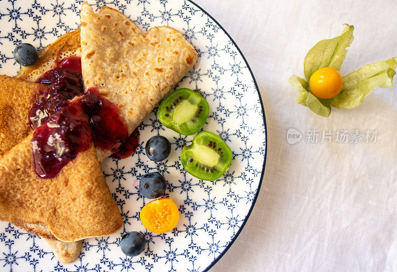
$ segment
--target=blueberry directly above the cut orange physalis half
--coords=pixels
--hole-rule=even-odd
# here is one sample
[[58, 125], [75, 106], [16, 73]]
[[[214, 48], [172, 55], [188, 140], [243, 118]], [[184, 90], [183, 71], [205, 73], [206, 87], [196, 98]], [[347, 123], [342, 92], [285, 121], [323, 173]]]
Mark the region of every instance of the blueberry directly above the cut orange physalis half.
[[140, 179], [139, 191], [145, 198], [157, 199], [164, 194], [165, 189], [167, 189], [167, 182], [159, 172], [145, 174]]

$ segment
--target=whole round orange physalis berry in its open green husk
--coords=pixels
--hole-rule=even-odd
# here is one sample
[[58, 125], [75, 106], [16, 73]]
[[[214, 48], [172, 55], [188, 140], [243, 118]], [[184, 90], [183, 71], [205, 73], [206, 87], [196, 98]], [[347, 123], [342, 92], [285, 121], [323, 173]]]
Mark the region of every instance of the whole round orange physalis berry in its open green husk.
[[320, 68], [310, 77], [309, 86], [316, 97], [330, 99], [342, 90], [343, 79], [339, 71], [334, 68]]

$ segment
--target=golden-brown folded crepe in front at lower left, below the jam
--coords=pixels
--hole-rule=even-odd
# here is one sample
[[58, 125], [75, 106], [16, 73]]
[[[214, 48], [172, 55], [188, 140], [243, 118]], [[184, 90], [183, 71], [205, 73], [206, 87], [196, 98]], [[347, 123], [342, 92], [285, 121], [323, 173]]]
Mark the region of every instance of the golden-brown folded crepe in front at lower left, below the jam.
[[42, 225], [33, 234], [64, 242], [120, 230], [120, 211], [93, 143], [55, 178], [43, 179], [34, 171], [32, 136], [33, 132], [0, 159], [0, 220], [24, 229], [30, 224]]

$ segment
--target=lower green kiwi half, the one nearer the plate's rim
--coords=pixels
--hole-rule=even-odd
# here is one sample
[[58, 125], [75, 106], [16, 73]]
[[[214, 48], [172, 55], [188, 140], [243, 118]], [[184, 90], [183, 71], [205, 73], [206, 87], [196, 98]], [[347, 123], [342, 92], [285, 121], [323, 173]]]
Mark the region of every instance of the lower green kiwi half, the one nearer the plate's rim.
[[191, 145], [181, 153], [183, 168], [202, 180], [217, 180], [229, 169], [232, 161], [230, 147], [212, 132], [198, 133]]

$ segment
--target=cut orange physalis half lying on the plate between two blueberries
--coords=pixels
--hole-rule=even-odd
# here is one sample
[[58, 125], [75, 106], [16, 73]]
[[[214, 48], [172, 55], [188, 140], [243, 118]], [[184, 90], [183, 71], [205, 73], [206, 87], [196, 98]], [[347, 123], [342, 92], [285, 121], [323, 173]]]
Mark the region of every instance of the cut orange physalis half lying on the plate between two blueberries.
[[178, 224], [179, 210], [172, 199], [157, 199], [140, 210], [142, 225], [151, 232], [164, 233]]

